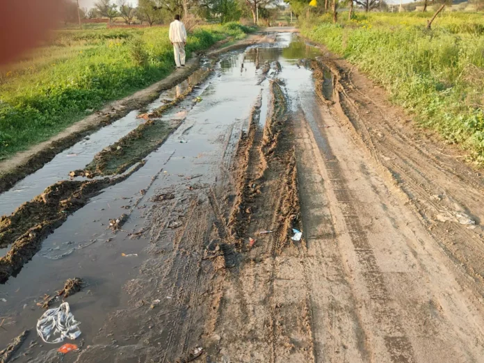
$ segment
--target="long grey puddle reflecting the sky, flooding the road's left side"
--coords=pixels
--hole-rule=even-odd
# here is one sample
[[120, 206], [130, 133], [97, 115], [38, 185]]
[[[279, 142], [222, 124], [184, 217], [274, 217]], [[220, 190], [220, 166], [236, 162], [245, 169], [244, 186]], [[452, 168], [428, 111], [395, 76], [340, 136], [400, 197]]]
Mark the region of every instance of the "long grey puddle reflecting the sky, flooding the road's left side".
[[[86, 345], [100, 341], [110, 344], [110, 338], [99, 334], [99, 329], [106, 323], [109, 313], [129, 307], [122, 287], [138, 275], [143, 260], [149, 257], [145, 248], [150, 245], [153, 234], [134, 239], [130, 233], [138, 232], [150, 220], [150, 207], [153, 205], [150, 198], [167, 188], [175, 191], [175, 194], [187, 193], [187, 188], [195, 185], [197, 191], [193, 193], [207, 193], [223, 169], [227, 168], [227, 159], [235, 152], [241, 130], [247, 127], [250, 109], [260, 94], [261, 124], [265, 121], [270, 102], [269, 80], [264, 79], [257, 85], [261, 79], [262, 65], [280, 62], [282, 72], [277, 77], [286, 85], [284, 89], [291, 107], [296, 107], [300, 104], [300, 97], [312, 88], [311, 72], [300, 67], [298, 60], [314, 56], [313, 52], [313, 49], [298, 42], [293, 35], [282, 34], [273, 47], [251, 47], [245, 52], [236, 51], [223, 56], [213, 76], [197, 92], [202, 99], [200, 103], [181, 102], [177, 108], [163, 115], [166, 120], [180, 118], [184, 122], [166, 143], [147, 157], [145, 166], [120, 184], [106, 188], [102, 194], [76, 211], [43, 242], [40, 252], [15, 277], [11, 277], [8, 284], [0, 285], [0, 298], [6, 300], [0, 300], [0, 316], [6, 318], [3, 322], [6, 330], [0, 334], [0, 347], [6, 346], [26, 329], [31, 330], [31, 334], [23, 349], [34, 341], [39, 343], [35, 323], [43, 310], [35, 302], [45, 293], [60, 289], [65, 280], [72, 277], [82, 277], [88, 283], [83, 291], [67, 298], [74, 316], [81, 322], [82, 335], [79, 341], [84, 339]], [[139, 122], [136, 119], [131, 121]], [[106, 143], [102, 136], [99, 134], [97, 137], [93, 135], [89, 141], [94, 143], [99, 140], [104, 147]], [[111, 138], [109, 143], [112, 141]], [[76, 147], [79, 147], [76, 151], [83, 150], [81, 143]], [[96, 150], [100, 148], [98, 145]], [[63, 161], [62, 168], [46, 166], [45, 170], [42, 169], [45, 174], [38, 175], [35, 183], [31, 179], [31, 188], [38, 188], [39, 178], [47, 175], [54, 179], [63, 178], [66, 170], [74, 169], [73, 164], [65, 160], [74, 160], [74, 157], [67, 156], [69, 152], [73, 151], [66, 151], [63, 159], [56, 161]], [[88, 159], [87, 156], [82, 157]], [[79, 163], [82, 164], [80, 167], [89, 161], [83, 160]], [[194, 175], [196, 179], [189, 179]], [[48, 186], [51, 183], [45, 184]], [[40, 187], [40, 191], [45, 186]], [[31, 189], [27, 189], [30, 193]], [[145, 193], [141, 193], [141, 190]], [[13, 194], [8, 195], [12, 197]], [[24, 199], [29, 200], [34, 195]], [[2, 197], [6, 198], [2, 201], [14, 204], [10, 197]], [[122, 213], [128, 213], [129, 220], [122, 231], [113, 234], [107, 229], [108, 220], [118, 218]], [[161, 228], [162, 232], [163, 226], [156, 228]], [[172, 241], [163, 240], [163, 233], [160, 236], [158, 243], [164, 249], [171, 250]], [[123, 257], [122, 253], [137, 256]], [[113, 326], [113, 329], [126, 331], [127, 335], [136, 333], [130, 331], [134, 328], [129, 326]], [[79, 344], [79, 341], [76, 343]], [[123, 342], [118, 341], [117, 344], [122, 345]], [[35, 346], [31, 348], [29, 357], [58, 346]], [[73, 362], [75, 359], [75, 355], [65, 355], [64, 361]], [[22, 356], [17, 362], [27, 360], [28, 357]]]

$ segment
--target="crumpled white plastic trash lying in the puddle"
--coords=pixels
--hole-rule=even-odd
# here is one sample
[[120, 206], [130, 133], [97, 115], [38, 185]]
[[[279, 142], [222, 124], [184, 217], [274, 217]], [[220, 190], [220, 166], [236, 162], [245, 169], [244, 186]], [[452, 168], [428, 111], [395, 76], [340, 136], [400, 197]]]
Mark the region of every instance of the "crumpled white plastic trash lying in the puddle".
[[[37, 322], [37, 333], [45, 343], [56, 344], [67, 339], [77, 339], [81, 335], [79, 322], [74, 319], [70, 312], [68, 302], [63, 302], [61, 306], [49, 309]], [[56, 339], [52, 338], [58, 336]]]

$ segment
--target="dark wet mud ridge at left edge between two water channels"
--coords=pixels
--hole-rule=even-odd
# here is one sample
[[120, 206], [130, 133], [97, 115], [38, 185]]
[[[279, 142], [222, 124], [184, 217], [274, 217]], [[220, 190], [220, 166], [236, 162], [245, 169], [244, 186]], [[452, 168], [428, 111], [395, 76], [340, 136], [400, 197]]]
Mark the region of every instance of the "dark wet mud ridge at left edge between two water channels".
[[126, 175], [91, 181], [65, 180], [49, 186], [44, 193], [22, 204], [10, 216], [0, 218], [0, 247], [12, 243], [0, 258], [0, 284], [17, 274], [40, 250], [42, 241], [60, 227], [67, 217], [81, 209], [104, 188], [118, 184], [136, 172], [143, 163]]

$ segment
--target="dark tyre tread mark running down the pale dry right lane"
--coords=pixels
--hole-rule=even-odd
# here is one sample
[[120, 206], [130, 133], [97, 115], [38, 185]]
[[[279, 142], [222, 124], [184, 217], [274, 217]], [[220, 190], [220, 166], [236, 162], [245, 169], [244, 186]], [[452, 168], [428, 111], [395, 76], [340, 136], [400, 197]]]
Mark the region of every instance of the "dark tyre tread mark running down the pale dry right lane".
[[[317, 73], [314, 75], [317, 76]], [[358, 202], [357, 195], [348, 188], [344, 171], [341, 169], [337, 157], [332, 153], [324, 128], [314, 124], [311, 124], [311, 128], [314, 135], [321, 137], [321, 143], [318, 143], [318, 147], [323, 156], [325, 172], [328, 174], [330, 186], [328, 193], [335, 200], [335, 203], [332, 204], [333, 208], [337, 209], [343, 218], [346, 234], [353, 245], [362, 269], [362, 277], [373, 302], [372, 314], [375, 321], [380, 324], [388, 355], [394, 363], [416, 362], [412, 344], [403, 328], [401, 316], [390, 305], [392, 298], [387, 290], [382, 271], [378, 266], [366, 231], [360, 221], [358, 211], [362, 208], [361, 203]]]

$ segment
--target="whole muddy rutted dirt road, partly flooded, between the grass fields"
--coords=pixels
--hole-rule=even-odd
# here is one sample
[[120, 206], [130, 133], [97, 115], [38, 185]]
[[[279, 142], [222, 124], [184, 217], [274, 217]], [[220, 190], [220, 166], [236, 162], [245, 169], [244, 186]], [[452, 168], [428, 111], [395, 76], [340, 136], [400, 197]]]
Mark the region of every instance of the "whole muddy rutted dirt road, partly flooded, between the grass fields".
[[481, 175], [295, 34], [203, 62], [0, 195], [0, 360], [484, 362]]

